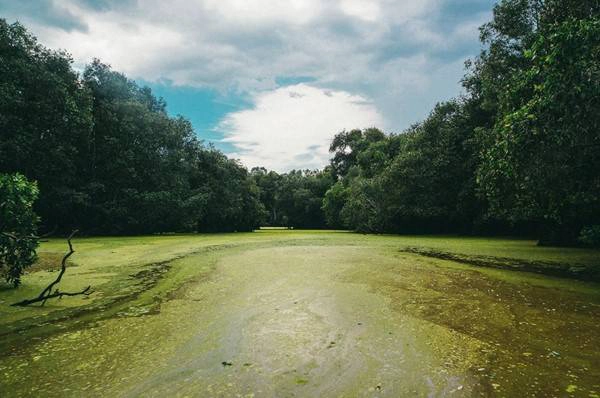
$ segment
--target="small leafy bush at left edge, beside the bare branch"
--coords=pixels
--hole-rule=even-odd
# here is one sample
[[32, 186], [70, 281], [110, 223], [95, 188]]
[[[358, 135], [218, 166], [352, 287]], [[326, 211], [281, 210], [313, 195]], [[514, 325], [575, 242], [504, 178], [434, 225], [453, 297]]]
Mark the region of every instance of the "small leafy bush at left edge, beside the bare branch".
[[20, 174], [0, 174], [0, 274], [18, 286], [36, 259], [38, 217], [33, 203], [38, 188]]

